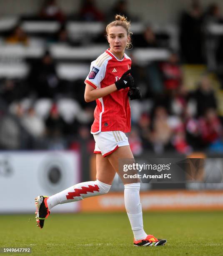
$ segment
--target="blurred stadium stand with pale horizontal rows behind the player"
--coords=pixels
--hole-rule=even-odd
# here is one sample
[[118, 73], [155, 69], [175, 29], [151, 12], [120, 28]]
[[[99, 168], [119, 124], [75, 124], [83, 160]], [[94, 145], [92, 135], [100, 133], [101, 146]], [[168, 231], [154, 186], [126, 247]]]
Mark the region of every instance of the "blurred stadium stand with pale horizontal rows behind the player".
[[[56, 2], [52, 1], [52, 4]], [[79, 16], [75, 20], [74, 16], [66, 16], [58, 7], [54, 17], [46, 17], [43, 15], [44, 8], [47, 12], [49, 6], [42, 7], [41, 12], [34, 16], [0, 19], [1, 118], [6, 118], [8, 113], [15, 115], [19, 125], [27, 130], [29, 140], [35, 137], [35, 133], [30, 134], [29, 129], [26, 129], [31, 116], [33, 120], [34, 116], [43, 120], [44, 127], [47, 127], [46, 120], [54, 111], [52, 108], [57, 109], [63, 120], [60, 120], [63, 131], [58, 136], [66, 141], [63, 146], [69, 148], [73, 140], [78, 138], [79, 128], [91, 124], [90, 115], [95, 103], [84, 102], [83, 80], [89, 72], [90, 62], [108, 47], [104, 36], [105, 23], [103, 19], [83, 21]], [[117, 5], [114, 8], [127, 11], [126, 6]], [[204, 38], [203, 55], [196, 59], [199, 59], [196, 64], [190, 61], [190, 56], [185, 56], [188, 49], [183, 48], [180, 41], [194, 33], [190, 28], [185, 29], [184, 24], [185, 19], [191, 19], [193, 12], [196, 17], [202, 17], [196, 23], [197, 29], [205, 28], [205, 33], [201, 35]], [[190, 11], [183, 12], [181, 20], [175, 24], [167, 23], [163, 26], [133, 18], [133, 49], [127, 51], [127, 54], [133, 60], [133, 76], [143, 91], [143, 99], [131, 102], [134, 128], [129, 136], [132, 141], [138, 141], [142, 150], [157, 153], [174, 151], [179, 154], [199, 147], [210, 150], [213, 141], [201, 145], [202, 134], [198, 134], [198, 143], [192, 145], [191, 134], [187, 131], [188, 120], [190, 125], [193, 123], [199, 130], [199, 120], [204, 118], [204, 113], [200, 114], [198, 110], [198, 99], [193, 96], [198, 83], [203, 81], [203, 74], [209, 77], [212, 97], [217, 102], [214, 109], [220, 118], [220, 133], [217, 133], [216, 138], [219, 143], [223, 143], [222, 72], [218, 69], [218, 46], [223, 28], [220, 20], [211, 15], [211, 12], [205, 14], [199, 6], [192, 6]], [[182, 28], [185, 29], [183, 34]], [[173, 55], [175, 61], [171, 60]], [[19, 115], [18, 110], [12, 111], [15, 105], [21, 110]], [[159, 123], [162, 116], [165, 117], [163, 125], [169, 133], [163, 143], [159, 144], [153, 138], [155, 134], [162, 133], [159, 128], [162, 127], [162, 122]], [[38, 138], [47, 136], [48, 133], [41, 133]], [[28, 149], [41, 149], [43, 146], [43, 143], [35, 143], [36, 140], [32, 143], [27, 141], [24, 145]], [[4, 145], [0, 147], [5, 148]], [[20, 148], [18, 143], [14, 143], [14, 146], [15, 149]], [[47, 146], [44, 144], [43, 147]]]

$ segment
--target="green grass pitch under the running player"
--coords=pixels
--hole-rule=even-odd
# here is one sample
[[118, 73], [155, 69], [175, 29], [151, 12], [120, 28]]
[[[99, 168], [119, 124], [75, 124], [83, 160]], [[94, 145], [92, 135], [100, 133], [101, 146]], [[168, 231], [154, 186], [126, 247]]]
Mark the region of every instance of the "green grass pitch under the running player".
[[145, 231], [168, 240], [154, 248], [133, 246], [125, 213], [52, 214], [42, 230], [34, 215], [0, 215], [0, 247], [31, 247], [42, 256], [223, 255], [222, 214], [144, 213]]

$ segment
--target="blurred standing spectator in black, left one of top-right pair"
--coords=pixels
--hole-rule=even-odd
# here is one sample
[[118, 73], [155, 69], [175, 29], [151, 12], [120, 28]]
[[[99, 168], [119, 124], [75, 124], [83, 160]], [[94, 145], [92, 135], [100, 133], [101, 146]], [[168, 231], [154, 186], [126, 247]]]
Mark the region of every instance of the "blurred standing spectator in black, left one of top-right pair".
[[189, 12], [180, 18], [180, 48], [185, 63], [203, 63], [203, 11], [198, 0], [193, 0]]

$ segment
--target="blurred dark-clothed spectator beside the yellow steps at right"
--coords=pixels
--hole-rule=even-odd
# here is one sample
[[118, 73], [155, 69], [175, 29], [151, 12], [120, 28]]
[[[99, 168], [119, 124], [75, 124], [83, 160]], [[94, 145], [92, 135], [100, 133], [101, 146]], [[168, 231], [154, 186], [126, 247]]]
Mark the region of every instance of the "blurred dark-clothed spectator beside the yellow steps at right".
[[213, 86], [207, 75], [201, 78], [198, 89], [191, 96], [196, 101], [198, 116], [204, 115], [209, 108], [217, 108]]

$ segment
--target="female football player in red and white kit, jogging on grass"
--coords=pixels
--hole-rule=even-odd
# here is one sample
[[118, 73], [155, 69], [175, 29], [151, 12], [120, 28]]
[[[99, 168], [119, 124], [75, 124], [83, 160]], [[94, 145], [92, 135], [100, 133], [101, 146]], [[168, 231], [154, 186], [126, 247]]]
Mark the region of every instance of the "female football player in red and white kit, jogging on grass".
[[119, 170], [122, 159], [134, 161], [125, 136], [125, 133], [130, 132], [128, 97], [131, 100], [141, 97], [140, 89], [134, 87], [130, 75], [131, 59], [125, 54], [125, 49], [131, 46], [130, 22], [124, 16], [116, 15], [115, 20], [108, 24], [106, 32], [110, 48], [91, 63], [90, 73], [85, 79], [85, 101], [97, 102], [91, 127], [95, 139], [96, 180], [76, 184], [50, 197], [36, 197], [36, 222], [43, 228], [44, 220], [55, 205], [108, 193], [118, 172], [125, 187], [125, 208], [133, 230], [134, 245], [164, 245], [165, 239], [147, 235], [143, 229], [140, 182], [126, 181]]

